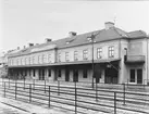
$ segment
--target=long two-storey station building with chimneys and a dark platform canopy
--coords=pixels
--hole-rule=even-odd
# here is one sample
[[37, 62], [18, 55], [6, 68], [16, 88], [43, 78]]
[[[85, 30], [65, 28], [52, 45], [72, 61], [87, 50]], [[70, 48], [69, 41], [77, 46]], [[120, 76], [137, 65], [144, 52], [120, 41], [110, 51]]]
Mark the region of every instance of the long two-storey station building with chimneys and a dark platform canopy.
[[149, 37], [142, 30], [124, 31], [112, 22], [104, 25], [101, 30], [70, 31], [63, 39], [30, 43], [9, 55], [9, 75], [49, 81], [147, 84]]

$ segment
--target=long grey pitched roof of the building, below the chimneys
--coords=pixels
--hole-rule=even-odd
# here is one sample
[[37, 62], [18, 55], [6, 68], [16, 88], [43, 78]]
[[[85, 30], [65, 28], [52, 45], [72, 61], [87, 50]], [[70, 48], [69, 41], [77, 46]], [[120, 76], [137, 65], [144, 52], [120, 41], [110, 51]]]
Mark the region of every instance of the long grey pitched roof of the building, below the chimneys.
[[[22, 54], [32, 53], [32, 49], [35, 49], [35, 48], [40, 49], [40, 48], [45, 48], [47, 46], [52, 46], [52, 45], [55, 45], [55, 47], [59, 49], [59, 48], [66, 48], [66, 47], [90, 43], [87, 38], [90, 37], [91, 35], [96, 35], [95, 37], [96, 42], [108, 41], [108, 40], [113, 40], [113, 39], [121, 39], [121, 38], [145, 38], [147, 37], [147, 34], [142, 30], [135, 30], [135, 31], [126, 33], [120, 28], [112, 27], [110, 29], [95, 30], [95, 31], [90, 31], [86, 34], [76, 35], [71, 38], [67, 37], [67, 38], [63, 38], [59, 40], [53, 40], [47, 43], [33, 46], [30, 48], [23, 49], [16, 53], [12, 53], [11, 55], [13, 56], [13, 55], [22, 55]], [[70, 43], [66, 43], [66, 42], [70, 42]]]

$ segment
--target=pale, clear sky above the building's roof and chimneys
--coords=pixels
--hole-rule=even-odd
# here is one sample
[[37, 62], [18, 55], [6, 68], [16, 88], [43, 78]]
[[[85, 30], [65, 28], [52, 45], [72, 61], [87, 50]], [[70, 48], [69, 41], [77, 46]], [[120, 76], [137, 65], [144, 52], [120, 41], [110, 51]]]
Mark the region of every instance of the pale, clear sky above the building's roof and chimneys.
[[1, 0], [0, 52], [103, 29], [105, 22], [149, 34], [149, 1]]

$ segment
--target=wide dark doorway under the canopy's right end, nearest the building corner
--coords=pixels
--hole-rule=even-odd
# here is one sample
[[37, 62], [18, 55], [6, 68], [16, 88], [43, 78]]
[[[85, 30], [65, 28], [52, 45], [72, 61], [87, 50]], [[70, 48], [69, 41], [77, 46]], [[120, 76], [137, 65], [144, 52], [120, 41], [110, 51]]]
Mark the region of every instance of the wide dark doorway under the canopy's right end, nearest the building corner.
[[114, 68], [105, 69], [105, 84], [117, 84], [117, 71]]

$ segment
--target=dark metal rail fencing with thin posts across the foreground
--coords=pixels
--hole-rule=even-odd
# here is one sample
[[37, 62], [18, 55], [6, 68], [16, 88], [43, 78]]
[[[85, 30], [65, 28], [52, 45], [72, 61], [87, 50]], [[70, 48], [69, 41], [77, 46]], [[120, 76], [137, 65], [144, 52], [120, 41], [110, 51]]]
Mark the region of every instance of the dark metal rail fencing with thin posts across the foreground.
[[[60, 107], [75, 114], [87, 114], [90, 112], [103, 112], [116, 114], [121, 111], [137, 113], [149, 113], [142, 110], [149, 106], [149, 94], [132, 93], [125, 91], [110, 91], [97, 88], [48, 86], [39, 84], [27, 84], [18, 81], [3, 81], [3, 96], [24, 100], [33, 103], [48, 105], [49, 107]], [[134, 104], [137, 105], [134, 106]], [[127, 106], [125, 106], [127, 105]], [[140, 109], [138, 109], [138, 106]]]

